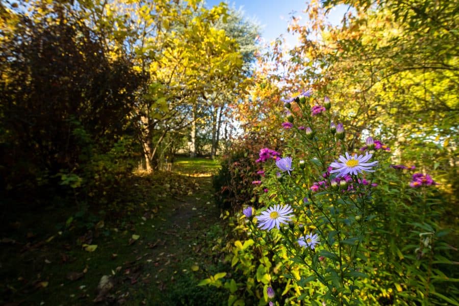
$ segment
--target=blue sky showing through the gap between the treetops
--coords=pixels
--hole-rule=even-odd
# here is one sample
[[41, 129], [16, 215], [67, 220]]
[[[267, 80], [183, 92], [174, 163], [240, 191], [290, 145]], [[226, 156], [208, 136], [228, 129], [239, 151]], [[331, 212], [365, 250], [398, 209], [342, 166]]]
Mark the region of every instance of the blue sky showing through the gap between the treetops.
[[[221, 0], [207, 0], [208, 7], [218, 5]], [[296, 12], [294, 16], [306, 16], [302, 11], [306, 8], [305, 0], [228, 0], [230, 7], [239, 9], [242, 7], [244, 15], [252, 20], [258, 21], [261, 25], [262, 37], [267, 41], [271, 41], [282, 33], [287, 33], [287, 24], [291, 13]], [[345, 12], [345, 7], [331, 11], [329, 20], [338, 24]], [[291, 35], [285, 36], [289, 44], [294, 44], [296, 38]]]

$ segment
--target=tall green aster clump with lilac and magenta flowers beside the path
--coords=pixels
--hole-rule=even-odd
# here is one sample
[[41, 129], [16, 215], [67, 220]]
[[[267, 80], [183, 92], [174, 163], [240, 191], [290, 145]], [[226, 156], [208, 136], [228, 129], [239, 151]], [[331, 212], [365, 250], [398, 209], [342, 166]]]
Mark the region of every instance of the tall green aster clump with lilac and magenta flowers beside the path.
[[236, 220], [246, 240], [227, 245], [243, 299], [457, 304], [450, 296], [459, 279], [446, 268], [455, 249], [442, 241], [448, 231], [439, 225], [441, 195], [431, 177], [415, 173], [410, 184], [411, 169], [390, 167], [390, 149], [371, 137], [364, 154], [348, 151], [329, 99], [320, 116], [303, 96], [285, 102], [300, 112], [289, 120], [283, 157], [264, 160], [265, 207], [247, 207]]

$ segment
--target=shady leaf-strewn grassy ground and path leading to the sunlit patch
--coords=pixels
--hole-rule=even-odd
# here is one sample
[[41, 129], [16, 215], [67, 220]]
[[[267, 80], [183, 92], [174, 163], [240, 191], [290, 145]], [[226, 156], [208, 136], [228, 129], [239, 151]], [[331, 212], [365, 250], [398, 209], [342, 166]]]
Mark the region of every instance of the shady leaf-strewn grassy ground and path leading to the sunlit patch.
[[217, 170], [212, 160], [179, 159], [171, 172], [133, 175], [105, 218], [65, 205], [9, 218], [0, 304], [226, 304], [226, 292], [196, 286], [225, 265]]

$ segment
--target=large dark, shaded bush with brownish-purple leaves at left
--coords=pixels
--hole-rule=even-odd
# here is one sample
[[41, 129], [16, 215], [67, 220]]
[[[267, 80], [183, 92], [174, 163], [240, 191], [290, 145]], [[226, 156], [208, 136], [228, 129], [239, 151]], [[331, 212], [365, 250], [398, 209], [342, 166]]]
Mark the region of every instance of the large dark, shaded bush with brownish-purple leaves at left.
[[14, 31], [1, 33], [0, 191], [66, 192], [118, 150], [141, 78], [63, 7], [15, 17]]

